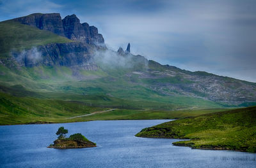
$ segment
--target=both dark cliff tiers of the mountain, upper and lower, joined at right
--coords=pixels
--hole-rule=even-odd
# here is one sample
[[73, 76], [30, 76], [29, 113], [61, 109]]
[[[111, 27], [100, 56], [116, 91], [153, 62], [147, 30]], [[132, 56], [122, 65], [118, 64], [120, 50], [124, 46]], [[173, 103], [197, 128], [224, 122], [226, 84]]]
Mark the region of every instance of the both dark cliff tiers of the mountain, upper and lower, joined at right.
[[104, 45], [104, 38], [98, 33], [97, 27], [87, 23], [81, 24], [76, 15], [68, 15], [61, 20], [60, 13], [34, 13], [13, 20], [76, 41], [36, 46], [21, 52], [12, 51], [13, 57], [20, 66], [68, 66], [97, 70], [97, 65], [92, 58], [92, 50]]

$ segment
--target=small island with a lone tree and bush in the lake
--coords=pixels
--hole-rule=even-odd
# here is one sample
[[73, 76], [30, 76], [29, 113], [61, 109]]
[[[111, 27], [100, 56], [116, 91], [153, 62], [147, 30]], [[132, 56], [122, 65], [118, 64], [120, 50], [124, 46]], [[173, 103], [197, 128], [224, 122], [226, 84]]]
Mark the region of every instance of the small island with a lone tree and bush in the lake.
[[96, 147], [96, 144], [92, 141], [89, 141], [82, 134], [77, 133], [69, 137], [65, 137], [65, 134], [68, 133], [67, 129], [60, 127], [56, 132], [56, 135], [59, 136], [53, 143], [50, 144], [47, 148], [58, 148], [58, 149], [69, 149], [69, 148], [92, 148]]

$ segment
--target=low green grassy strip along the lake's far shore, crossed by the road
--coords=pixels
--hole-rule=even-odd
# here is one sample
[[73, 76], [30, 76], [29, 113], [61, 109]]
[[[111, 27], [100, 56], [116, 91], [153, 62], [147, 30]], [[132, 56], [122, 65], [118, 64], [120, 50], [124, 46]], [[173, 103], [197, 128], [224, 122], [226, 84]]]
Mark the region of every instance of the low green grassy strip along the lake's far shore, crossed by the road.
[[[19, 86], [17, 86], [19, 87]], [[4, 90], [5, 88], [1, 88]], [[16, 89], [13, 89], [15, 92]], [[65, 122], [84, 122], [90, 120], [145, 120], [145, 119], [173, 119], [184, 118], [186, 116], [196, 116], [205, 113], [223, 111], [224, 109], [182, 109], [178, 111], [152, 110], [152, 109], [132, 109], [132, 102], [129, 106], [120, 105], [122, 100], [111, 104], [111, 106], [99, 106], [99, 102], [109, 101], [108, 97], [91, 95], [81, 97], [88, 101], [63, 101], [60, 99], [45, 99], [35, 97], [24, 97], [30, 92], [18, 92], [18, 96], [12, 96], [0, 92], [0, 125], [13, 125], [24, 123], [65, 123]], [[22, 96], [22, 97], [20, 97]], [[43, 95], [40, 95], [43, 96]], [[69, 97], [69, 96], [68, 96]], [[92, 100], [95, 102], [92, 103]], [[104, 111], [116, 108], [106, 113], [98, 113], [79, 118], [74, 116], [88, 115], [95, 111]]]

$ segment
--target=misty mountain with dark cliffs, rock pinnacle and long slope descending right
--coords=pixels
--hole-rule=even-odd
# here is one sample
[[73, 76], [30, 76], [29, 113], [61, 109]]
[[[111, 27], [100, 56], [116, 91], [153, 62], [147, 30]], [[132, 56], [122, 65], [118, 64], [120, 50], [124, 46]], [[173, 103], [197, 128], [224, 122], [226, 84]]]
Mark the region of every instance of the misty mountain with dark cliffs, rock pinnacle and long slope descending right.
[[[63, 28], [63, 25], [66, 28]], [[8, 29], [9, 27], [12, 29]], [[182, 106], [190, 107], [200, 107], [208, 101], [220, 106], [248, 106], [246, 104], [256, 102], [256, 83], [161, 65], [141, 55], [133, 55], [130, 43], [125, 51], [121, 47], [117, 52], [109, 50], [104, 45], [101, 34], [93, 39], [92, 34], [98, 34], [97, 28], [90, 28], [86, 23], [80, 24], [76, 15], [69, 15], [61, 20], [59, 13], [35, 13], [0, 22], [0, 29], [4, 34], [10, 34], [2, 34], [0, 37], [3, 45], [10, 41], [6, 45], [9, 45], [9, 49], [5, 47], [8, 50], [0, 53], [0, 66], [4, 69], [0, 79], [1, 85], [26, 83], [33, 86], [33, 83], [38, 83], [36, 85], [44, 86], [44, 89], [33, 87], [40, 88], [36, 92], [47, 90], [56, 93], [74, 92], [78, 95], [104, 94], [121, 99], [136, 98], [140, 101], [150, 97], [150, 101], [162, 101], [161, 103], [170, 104], [170, 107], [179, 104], [179, 99], [188, 102], [184, 105], [181, 101]], [[50, 38], [45, 43], [35, 43], [33, 46], [30, 44], [34, 41], [29, 41], [31, 32], [35, 35], [47, 34]], [[23, 35], [18, 36], [20, 34]], [[61, 36], [63, 34], [65, 37]], [[44, 36], [38, 37], [38, 41], [44, 39]], [[52, 37], [58, 40], [54, 41]], [[12, 47], [13, 38], [21, 49]], [[98, 43], [100, 41], [102, 43]], [[29, 44], [26, 48], [23, 47], [25, 43]], [[35, 60], [35, 57], [39, 59]], [[24, 81], [10, 78], [14, 74], [22, 76]], [[55, 86], [60, 80], [61, 83]]]

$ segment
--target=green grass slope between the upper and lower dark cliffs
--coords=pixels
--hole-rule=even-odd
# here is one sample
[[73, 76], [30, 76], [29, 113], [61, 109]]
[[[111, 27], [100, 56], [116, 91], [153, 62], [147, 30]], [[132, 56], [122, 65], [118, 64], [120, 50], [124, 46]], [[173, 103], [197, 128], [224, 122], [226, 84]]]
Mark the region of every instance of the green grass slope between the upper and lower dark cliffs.
[[68, 43], [70, 39], [58, 36], [50, 31], [20, 24], [13, 20], [0, 22], [0, 53], [8, 53], [12, 49], [23, 50], [32, 46], [49, 43]]

